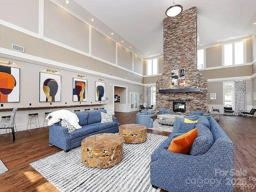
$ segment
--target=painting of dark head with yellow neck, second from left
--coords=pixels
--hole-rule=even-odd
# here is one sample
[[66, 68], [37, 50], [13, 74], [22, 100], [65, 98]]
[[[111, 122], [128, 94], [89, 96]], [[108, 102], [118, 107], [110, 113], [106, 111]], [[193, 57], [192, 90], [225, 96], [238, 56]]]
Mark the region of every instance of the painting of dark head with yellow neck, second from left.
[[60, 101], [61, 75], [40, 72], [39, 102]]

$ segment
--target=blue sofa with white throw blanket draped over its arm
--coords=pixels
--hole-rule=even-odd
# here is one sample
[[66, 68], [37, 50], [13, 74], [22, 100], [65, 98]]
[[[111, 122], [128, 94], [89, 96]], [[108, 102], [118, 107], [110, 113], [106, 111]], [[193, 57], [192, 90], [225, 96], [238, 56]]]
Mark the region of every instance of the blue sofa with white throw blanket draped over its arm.
[[100, 112], [106, 113], [106, 110], [76, 113], [82, 128], [71, 133], [68, 133], [68, 128], [61, 126], [61, 122], [53, 124], [49, 127], [49, 143], [68, 151], [81, 146], [82, 140], [90, 135], [118, 132], [120, 124], [117, 122], [117, 118], [113, 118], [113, 122], [101, 123]]

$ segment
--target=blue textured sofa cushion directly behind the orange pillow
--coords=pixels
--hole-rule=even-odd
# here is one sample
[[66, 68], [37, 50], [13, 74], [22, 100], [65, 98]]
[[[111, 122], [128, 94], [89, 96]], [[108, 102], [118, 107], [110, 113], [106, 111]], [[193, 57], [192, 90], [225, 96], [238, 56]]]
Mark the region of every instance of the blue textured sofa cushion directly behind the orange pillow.
[[196, 125], [196, 128], [198, 128], [198, 134], [192, 144], [190, 155], [205, 154], [214, 143], [212, 132], [206, 126], [200, 123]]

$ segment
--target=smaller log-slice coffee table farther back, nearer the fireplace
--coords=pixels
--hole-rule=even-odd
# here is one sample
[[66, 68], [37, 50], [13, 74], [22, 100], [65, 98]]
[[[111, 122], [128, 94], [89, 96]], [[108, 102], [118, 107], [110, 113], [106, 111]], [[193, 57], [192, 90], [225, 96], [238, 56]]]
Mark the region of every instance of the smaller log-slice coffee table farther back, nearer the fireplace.
[[119, 134], [126, 143], [142, 143], [147, 139], [147, 128], [139, 124], [125, 124], [119, 126]]

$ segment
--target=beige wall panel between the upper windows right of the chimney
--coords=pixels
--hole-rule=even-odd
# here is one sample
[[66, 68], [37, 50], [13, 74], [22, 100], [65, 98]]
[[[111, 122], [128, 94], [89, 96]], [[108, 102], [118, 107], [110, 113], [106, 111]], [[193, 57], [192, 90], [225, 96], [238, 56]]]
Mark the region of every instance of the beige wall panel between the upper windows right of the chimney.
[[222, 46], [206, 48], [206, 68], [222, 66]]

